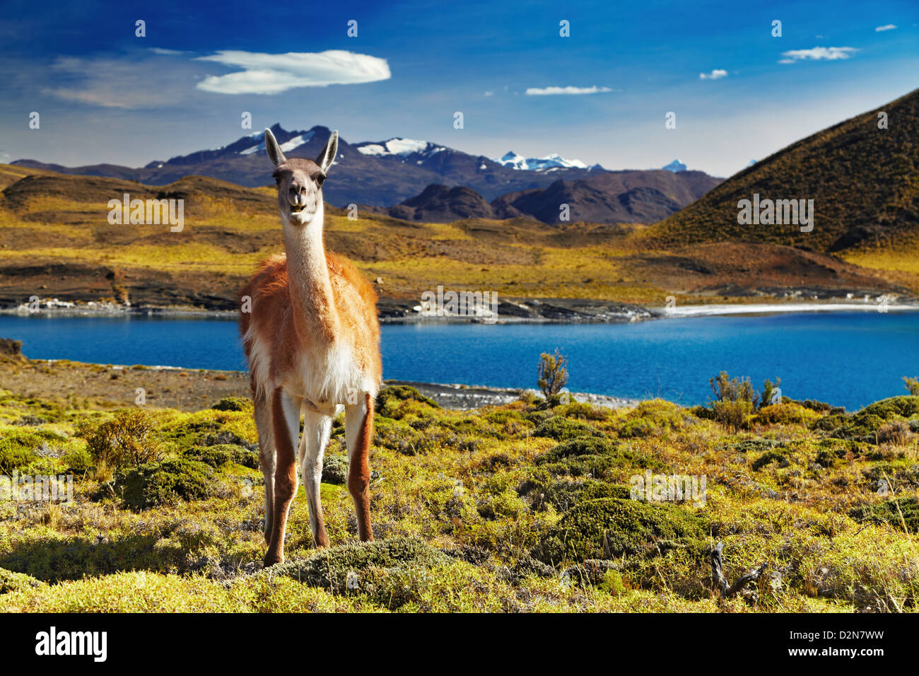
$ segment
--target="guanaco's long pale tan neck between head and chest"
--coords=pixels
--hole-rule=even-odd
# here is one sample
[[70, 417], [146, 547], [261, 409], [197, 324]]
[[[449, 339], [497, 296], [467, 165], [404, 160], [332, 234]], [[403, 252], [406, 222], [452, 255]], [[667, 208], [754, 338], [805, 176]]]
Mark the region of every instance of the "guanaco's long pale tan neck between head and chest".
[[306, 225], [284, 223], [284, 246], [294, 327], [304, 341], [333, 342], [338, 312], [323, 246], [323, 202]]

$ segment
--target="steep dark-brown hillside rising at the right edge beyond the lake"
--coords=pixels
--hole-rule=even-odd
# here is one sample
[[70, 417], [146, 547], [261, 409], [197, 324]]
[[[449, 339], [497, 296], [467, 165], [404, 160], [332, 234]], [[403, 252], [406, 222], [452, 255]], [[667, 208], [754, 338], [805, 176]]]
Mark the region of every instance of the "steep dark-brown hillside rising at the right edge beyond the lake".
[[[878, 128], [886, 112], [888, 129]], [[655, 225], [659, 246], [762, 242], [902, 269], [919, 252], [919, 90], [793, 143]], [[797, 225], [741, 225], [737, 202], [814, 201], [810, 233]], [[873, 252], [883, 252], [880, 258]], [[899, 252], [893, 255], [892, 252]], [[906, 270], [915, 271], [914, 266]]]

